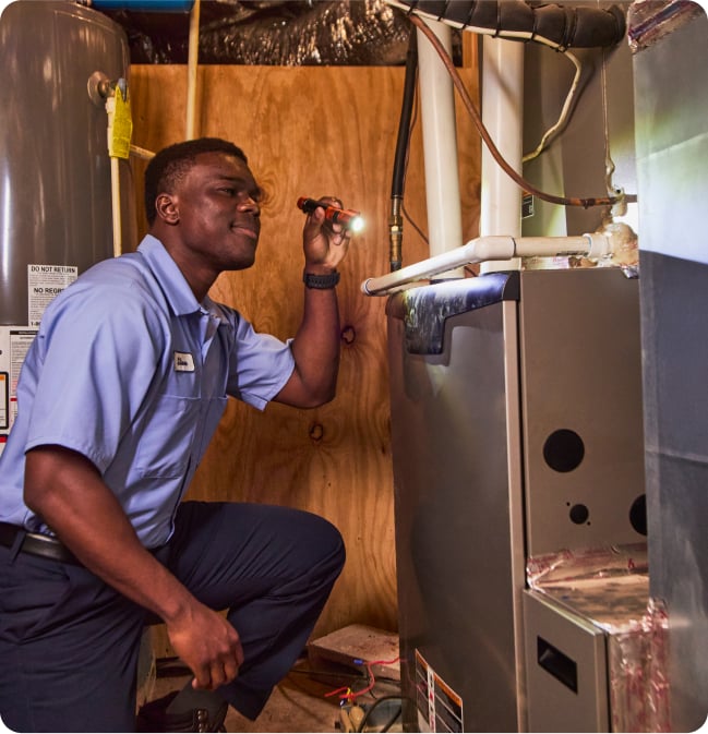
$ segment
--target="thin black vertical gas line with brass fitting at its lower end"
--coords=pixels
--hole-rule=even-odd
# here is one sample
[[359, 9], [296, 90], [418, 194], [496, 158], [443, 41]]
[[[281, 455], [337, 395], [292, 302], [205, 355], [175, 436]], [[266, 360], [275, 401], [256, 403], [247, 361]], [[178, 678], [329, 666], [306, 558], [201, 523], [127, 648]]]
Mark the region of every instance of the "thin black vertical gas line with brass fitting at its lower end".
[[418, 40], [416, 31], [411, 29], [406, 56], [406, 77], [404, 81], [404, 99], [398, 122], [398, 139], [394, 156], [394, 171], [391, 182], [391, 218], [388, 219], [388, 238], [391, 272], [399, 270], [403, 264], [401, 245], [404, 239], [404, 218], [401, 207], [406, 186], [406, 161], [410, 145], [410, 119], [416, 99], [416, 80], [418, 77]]

